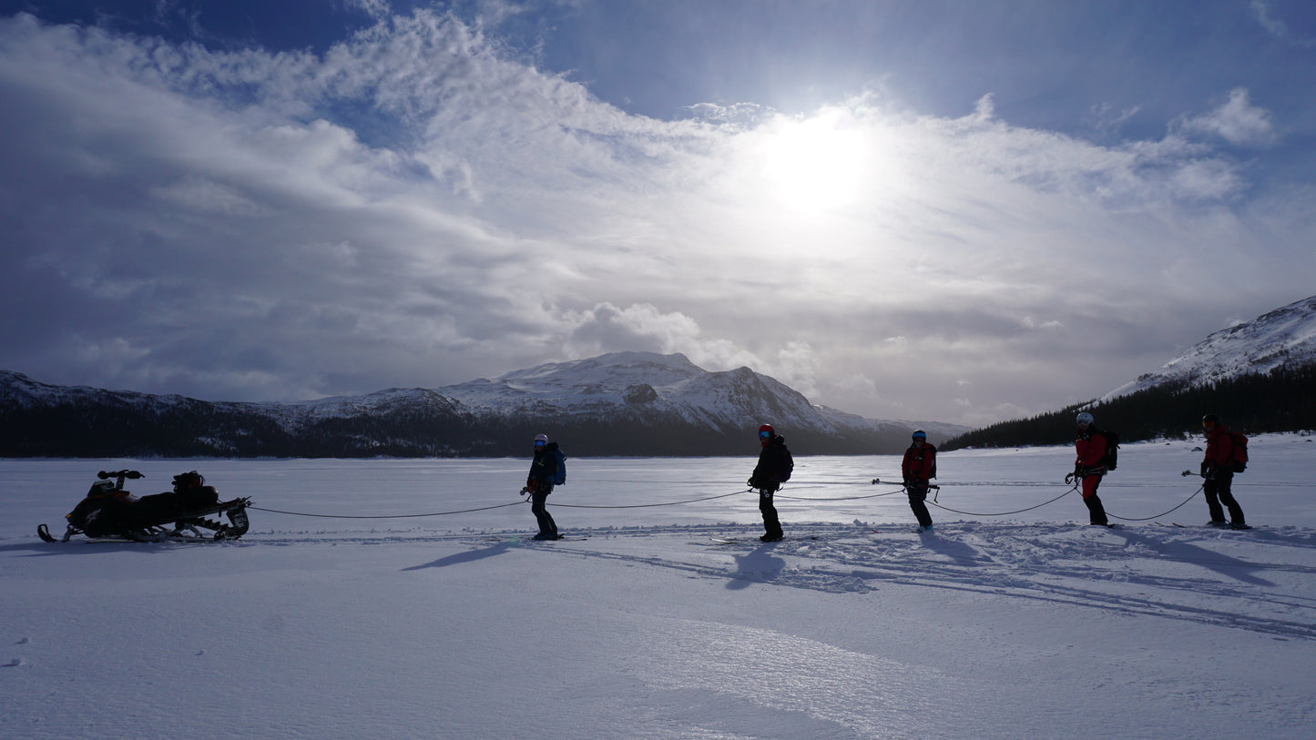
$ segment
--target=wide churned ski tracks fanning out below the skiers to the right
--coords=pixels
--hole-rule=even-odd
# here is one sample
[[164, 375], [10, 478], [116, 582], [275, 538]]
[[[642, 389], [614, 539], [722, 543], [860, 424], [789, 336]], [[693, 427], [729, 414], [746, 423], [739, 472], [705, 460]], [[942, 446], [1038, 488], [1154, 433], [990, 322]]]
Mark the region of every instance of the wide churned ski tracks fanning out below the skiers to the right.
[[[588, 543], [554, 549], [709, 578], [732, 577], [828, 593], [866, 593], [887, 585], [936, 588], [1058, 602], [1126, 616], [1184, 619], [1282, 639], [1316, 639], [1316, 598], [1299, 590], [1308, 585], [1304, 578], [1316, 576], [1316, 568], [1294, 564], [1290, 552], [1316, 547], [1316, 532], [1290, 530], [1221, 532], [1212, 538], [1191, 531], [1175, 534], [1163, 527], [1103, 531], [1074, 526], [962, 524], [941, 526], [934, 536], [907, 534], [907, 528], [898, 528], [894, 535], [865, 536], [846, 528], [813, 526], [797, 527], [792, 535], [817, 539], [691, 543], [694, 548], [730, 549], [728, 555], [734, 561], [730, 572], [719, 560], [617, 553]], [[758, 531], [736, 534], [753, 538]], [[1227, 538], [1237, 535], [1265, 543], [1271, 561], [1249, 563], [1228, 555]], [[591, 538], [590, 543], [594, 542]], [[1224, 547], [1213, 549], [1211, 544]], [[1188, 568], [1183, 576], [1166, 576], [1158, 573], [1163, 560]], [[1142, 568], [1153, 563], [1154, 570]], [[1203, 597], [1213, 606], [1202, 606]], [[1237, 609], [1229, 609], [1230, 602]], [[1258, 606], [1273, 616], [1258, 616]]]

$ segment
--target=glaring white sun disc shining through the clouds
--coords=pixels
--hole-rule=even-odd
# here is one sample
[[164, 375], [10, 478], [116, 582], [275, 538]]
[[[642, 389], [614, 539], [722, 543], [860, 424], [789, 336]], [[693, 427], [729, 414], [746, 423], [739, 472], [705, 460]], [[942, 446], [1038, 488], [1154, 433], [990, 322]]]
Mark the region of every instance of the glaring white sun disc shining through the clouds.
[[840, 116], [787, 124], [767, 142], [769, 184], [792, 210], [845, 205], [859, 193], [865, 149], [863, 135]]

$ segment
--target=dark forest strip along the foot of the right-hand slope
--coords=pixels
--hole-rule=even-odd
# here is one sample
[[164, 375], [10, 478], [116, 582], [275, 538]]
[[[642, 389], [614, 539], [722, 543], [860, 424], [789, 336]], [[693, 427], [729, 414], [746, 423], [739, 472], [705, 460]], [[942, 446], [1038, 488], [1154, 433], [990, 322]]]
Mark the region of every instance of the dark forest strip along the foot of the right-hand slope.
[[1091, 411], [1098, 428], [1116, 431], [1121, 442], [1200, 435], [1203, 414], [1219, 414], [1225, 426], [1244, 434], [1302, 432], [1316, 428], [1316, 364], [1282, 365], [1200, 386], [1166, 384], [1100, 404], [1075, 404], [973, 430], [946, 440], [941, 450], [1065, 444], [1074, 440], [1074, 417], [1080, 410]]

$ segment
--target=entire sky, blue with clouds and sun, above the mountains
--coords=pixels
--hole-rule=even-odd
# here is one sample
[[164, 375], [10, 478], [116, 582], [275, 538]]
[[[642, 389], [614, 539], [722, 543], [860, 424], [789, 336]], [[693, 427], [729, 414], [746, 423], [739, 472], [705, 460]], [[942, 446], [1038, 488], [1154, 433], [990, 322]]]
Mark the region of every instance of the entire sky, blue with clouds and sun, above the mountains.
[[0, 367], [1033, 414], [1316, 292], [1312, 89], [1282, 0], [3, 0]]

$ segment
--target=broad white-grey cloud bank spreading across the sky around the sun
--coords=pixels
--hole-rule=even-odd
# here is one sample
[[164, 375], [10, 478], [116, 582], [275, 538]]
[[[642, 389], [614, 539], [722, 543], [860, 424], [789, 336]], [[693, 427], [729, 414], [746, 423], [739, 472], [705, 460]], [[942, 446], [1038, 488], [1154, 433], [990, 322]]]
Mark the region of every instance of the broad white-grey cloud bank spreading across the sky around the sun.
[[[320, 54], [0, 21], [0, 310], [37, 317], [0, 326], [0, 367], [295, 400], [653, 350], [978, 422], [1159, 367], [1221, 293], [1309, 288], [1313, 193], [1246, 200], [1213, 149], [1280, 143], [1246, 91], [1112, 146], [991, 96], [661, 121], [486, 26], [361, 7], [379, 22]], [[838, 125], [853, 192], [791, 208], [766, 154]]]

